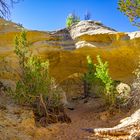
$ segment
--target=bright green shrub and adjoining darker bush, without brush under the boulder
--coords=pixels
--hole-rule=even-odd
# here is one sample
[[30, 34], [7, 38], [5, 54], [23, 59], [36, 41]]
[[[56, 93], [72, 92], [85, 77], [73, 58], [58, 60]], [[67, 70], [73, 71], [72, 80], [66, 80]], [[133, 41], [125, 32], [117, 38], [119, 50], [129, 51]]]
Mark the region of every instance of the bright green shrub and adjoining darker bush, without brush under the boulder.
[[[100, 56], [97, 56], [97, 64], [94, 64], [91, 57], [87, 56], [87, 63], [88, 71], [84, 74], [84, 80], [89, 85], [89, 92], [103, 97], [110, 105], [115, 104], [115, 82], [109, 76], [108, 63], [103, 63]], [[91, 91], [95, 89], [98, 93]]]

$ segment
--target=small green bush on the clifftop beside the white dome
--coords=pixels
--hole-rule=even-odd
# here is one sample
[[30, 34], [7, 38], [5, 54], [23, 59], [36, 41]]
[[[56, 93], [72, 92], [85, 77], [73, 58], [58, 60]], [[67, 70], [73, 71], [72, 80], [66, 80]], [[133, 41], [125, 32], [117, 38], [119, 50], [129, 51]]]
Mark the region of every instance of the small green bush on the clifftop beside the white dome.
[[74, 13], [69, 14], [66, 19], [66, 27], [70, 27], [74, 23], [78, 23], [80, 21], [80, 18], [76, 16]]

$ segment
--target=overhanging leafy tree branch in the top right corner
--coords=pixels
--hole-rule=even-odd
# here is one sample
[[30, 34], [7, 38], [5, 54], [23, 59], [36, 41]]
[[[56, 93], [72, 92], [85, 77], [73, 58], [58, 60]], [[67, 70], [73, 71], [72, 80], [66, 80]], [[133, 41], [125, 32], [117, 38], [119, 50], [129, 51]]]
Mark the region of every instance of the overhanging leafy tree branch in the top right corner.
[[119, 10], [123, 12], [134, 25], [140, 27], [140, 0], [119, 0]]

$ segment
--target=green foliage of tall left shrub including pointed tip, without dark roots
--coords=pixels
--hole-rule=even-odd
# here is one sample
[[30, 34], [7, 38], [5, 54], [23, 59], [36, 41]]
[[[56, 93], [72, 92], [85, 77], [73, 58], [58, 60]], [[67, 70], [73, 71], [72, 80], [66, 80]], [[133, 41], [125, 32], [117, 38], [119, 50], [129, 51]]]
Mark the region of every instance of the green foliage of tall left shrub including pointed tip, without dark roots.
[[55, 93], [55, 83], [49, 75], [49, 62], [31, 54], [25, 31], [15, 39], [15, 53], [22, 71], [15, 98], [21, 103], [32, 104], [40, 95], [44, 100], [50, 97], [53, 100], [52, 96], [55, 96], [57, 103], [59, 98], [56, 96], [59, 96], [59, 93]]

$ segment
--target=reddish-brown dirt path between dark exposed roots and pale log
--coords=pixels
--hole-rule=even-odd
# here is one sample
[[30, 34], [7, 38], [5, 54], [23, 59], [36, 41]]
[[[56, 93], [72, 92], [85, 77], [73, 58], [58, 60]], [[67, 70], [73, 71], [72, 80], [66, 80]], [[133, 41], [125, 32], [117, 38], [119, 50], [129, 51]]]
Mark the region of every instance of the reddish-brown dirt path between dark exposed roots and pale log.
[[72, 123], [60, 124], [59, 132], [50, 140], [88, 140], [90, 134], [81, 130], [82, 128], [112, 127], [129, 113], [106, 111], [100, 99], [93, 99], [87, 103], [78, 103], [76, 109], [68, 111], [68, 114]]

